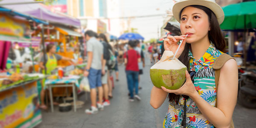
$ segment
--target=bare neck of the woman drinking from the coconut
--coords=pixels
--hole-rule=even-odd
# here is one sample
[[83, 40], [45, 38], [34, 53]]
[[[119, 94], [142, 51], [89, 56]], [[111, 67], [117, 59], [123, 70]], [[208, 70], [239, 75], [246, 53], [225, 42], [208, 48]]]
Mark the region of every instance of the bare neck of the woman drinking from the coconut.
[[199, 60], [209, 48], [210, 41], [208, 36], [191, 44], [191, 52], [195, 60]]

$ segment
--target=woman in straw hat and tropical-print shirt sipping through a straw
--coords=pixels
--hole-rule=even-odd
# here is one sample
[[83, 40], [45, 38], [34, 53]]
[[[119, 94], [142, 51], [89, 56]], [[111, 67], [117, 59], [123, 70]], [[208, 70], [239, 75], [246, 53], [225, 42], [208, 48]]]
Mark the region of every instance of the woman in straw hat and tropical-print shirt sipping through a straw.
[[180, 22], [182, 35], [169, 35], [164, 40], [164, 48], [176, 52], [177, 42], [183, 40], [176, 57], [189, 71], [195, 70], [194, 82], [186, 71], [186, 82], [180, 89], [153, 87], [150, 104], [155, 109], [159, 108], [169, 94], [169, 110], [163, 127], [180, 128], [185, 114], [185, 100], [181, 95], [186, 95], [189, 96], [184, 119], [186, 128], [229, 128], [238, 91], [236, 61], [230, 59], [221, 68], [218, 92], [212, 68], [215, 59], [225, 51], [219, 26], [224, 20], [224, 12], [215, 0], [182, 0], [173, 6], [173, 15]]

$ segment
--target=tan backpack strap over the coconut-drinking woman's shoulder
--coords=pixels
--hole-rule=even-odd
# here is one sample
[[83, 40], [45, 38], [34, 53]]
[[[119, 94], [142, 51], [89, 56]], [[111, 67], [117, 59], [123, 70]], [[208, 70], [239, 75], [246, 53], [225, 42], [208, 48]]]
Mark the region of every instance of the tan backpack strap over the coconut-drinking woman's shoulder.
[[[215, 107], [217, 107], [217, 92], [218, 92], [218, 80], [221, 74], [221, 67], [230, 59], [235, 59], [226, 53], [221, 54], [213, 63], [213, 69], [215, 70], [215, 86], [216, 86], [216, 103]], [[233, 119], [231, 120], [230, 128], [235, 128]]]

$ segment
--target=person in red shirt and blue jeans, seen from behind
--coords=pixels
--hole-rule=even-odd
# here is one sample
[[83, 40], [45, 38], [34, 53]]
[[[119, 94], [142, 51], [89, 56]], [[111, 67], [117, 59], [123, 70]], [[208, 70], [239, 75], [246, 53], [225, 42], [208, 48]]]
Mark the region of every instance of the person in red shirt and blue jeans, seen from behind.
[[[129, 101], [133, 102], [134, 97], [140, 100], [140, 96], [138, 96], [138, 86], [139, 86], [139, 65], [138, 63], [140, 60], [140, 53], [138, 53], [134, 48], [137, 46], [136, 41], [129, 41], [128, 47], [129, 50], [125, 52], [125, 73], [127, 77], [128, 88], [130, 92]], [[135, 96], [134, 96], [134, 89], [135, 89]]]

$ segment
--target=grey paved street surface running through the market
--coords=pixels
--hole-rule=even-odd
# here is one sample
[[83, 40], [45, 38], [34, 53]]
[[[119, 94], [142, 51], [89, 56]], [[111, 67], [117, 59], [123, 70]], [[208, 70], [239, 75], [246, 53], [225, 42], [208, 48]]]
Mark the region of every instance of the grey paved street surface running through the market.
[[[85, 95], [81, 95], [79, 100], [85, 101], [83, 108], [79, 108], [76, 113], [73, 110], [61, 113], [58, 107], [55, 107], [54, 113], [43, 111], [43, 122], [37, 128], [161, 128], [168, 110], [168, 100], [166, 99], [162, 107], [157, 110], [150, 106], [150, 92], [153, 86], [149, 77], [150, 67], [151, 64], [147, 60], [140, 81], [141, 101], [128, 101], [124, 66], [120, 65], [119, 82], [115, 82], [111, 105], [105, 107], [104, 111], [95, 115], [85, 114], [84, 110], [90, 107], [90, 100], [85, 101]], [[255, 115], [256, 109], [247, 109], [237, 105], [233, 114], [235, 127], [254, 128]]]

